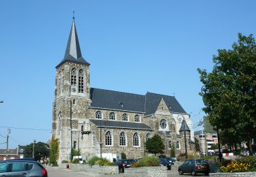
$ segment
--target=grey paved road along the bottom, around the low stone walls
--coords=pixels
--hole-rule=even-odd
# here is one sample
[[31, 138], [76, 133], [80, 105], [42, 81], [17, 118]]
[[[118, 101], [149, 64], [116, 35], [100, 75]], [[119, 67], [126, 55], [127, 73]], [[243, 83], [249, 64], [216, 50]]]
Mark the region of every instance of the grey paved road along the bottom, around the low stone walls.
[[[49, 177], [124, 177], [124, 174], [92, 174], [88, 172], [76, 172], [74, 170], [61, 169], [59, 167], [46, 167]], [[171, 167], [171, 170], [167, 170], [168, 177], [180, 176], [177, 172], [177, 164]], [[191, 174], [184, 174], [180, 177], [191, 176]], [[204, 176], [203, 174], [198, 174], [197, 176]], [[127, 177], [127, 176], [126, 176]]]

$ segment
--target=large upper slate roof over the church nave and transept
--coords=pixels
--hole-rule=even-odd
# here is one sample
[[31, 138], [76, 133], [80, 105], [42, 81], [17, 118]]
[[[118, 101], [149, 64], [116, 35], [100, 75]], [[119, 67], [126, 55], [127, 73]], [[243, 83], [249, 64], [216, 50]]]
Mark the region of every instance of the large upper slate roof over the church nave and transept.
[[142, 112], [145, 115], [154, 114], [163, 98], [170, 112], [186, 114], [180, 103], [175, 97], [160, 95], [156, 93], [147, 93], [146, 95], [137, 95], [134, 93], [124, 93], [119, 91], [109, 91], [100, 88], [91, 88], [91, 107], [126, 110], [130, 112]]

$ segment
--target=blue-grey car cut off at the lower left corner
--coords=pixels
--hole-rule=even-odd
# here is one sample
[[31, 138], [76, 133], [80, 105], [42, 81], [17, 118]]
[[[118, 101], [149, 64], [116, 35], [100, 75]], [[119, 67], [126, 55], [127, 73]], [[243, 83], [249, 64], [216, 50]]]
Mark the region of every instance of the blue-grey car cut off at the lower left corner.
[[1, 161], [0, 176], [48, 177], [48, 173], [37, 161], [12, 159]]

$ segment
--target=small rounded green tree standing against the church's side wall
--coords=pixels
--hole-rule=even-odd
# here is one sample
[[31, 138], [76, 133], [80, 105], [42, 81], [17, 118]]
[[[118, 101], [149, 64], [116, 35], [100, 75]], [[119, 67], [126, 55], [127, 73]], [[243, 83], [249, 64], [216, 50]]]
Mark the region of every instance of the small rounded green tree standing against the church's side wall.
[[156, 154], [163, 154], [165, 149], [165, 144], [162, 142], [160, 135], [154, 135], [152, 138], [147, 139], [146, 142], [146, 150], [149, 153], [152, 153], [156, 156]]

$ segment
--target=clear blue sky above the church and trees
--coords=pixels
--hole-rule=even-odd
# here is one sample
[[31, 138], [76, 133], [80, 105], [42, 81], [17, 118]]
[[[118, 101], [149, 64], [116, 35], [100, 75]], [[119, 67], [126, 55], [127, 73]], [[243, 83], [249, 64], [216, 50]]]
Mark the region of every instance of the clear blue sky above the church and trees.
[[[195, 124], [203, 118], [197, 68], [256, 33], [255, 1], [0, 1], [0, 148], [51, 136], [55, 66], [75, 10], [91, 87], [174, 95]], [[31, 130], [34, 129], [34, 130]], [[44, 129], [44, 130], [36, 130]]]

